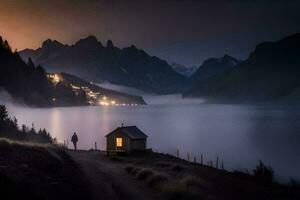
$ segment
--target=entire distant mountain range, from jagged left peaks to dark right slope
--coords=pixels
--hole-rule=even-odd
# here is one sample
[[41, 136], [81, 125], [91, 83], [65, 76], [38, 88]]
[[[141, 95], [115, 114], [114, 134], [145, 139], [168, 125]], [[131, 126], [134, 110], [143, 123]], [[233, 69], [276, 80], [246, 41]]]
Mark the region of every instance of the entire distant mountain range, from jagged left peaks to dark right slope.
[[103, 46], [94, 36], [71, 46], [46, 40], [41, 48], [20, 55], [50, 71], [158, 94], [181, 92], [184, 98], [212, 102], [299, 102], [299, 35], [258, 44], [244, 61], [229, 55], [210, 58], [190, 77], [182, 65], [169, 65], [135, 46], [120, 49], [111, 41]]

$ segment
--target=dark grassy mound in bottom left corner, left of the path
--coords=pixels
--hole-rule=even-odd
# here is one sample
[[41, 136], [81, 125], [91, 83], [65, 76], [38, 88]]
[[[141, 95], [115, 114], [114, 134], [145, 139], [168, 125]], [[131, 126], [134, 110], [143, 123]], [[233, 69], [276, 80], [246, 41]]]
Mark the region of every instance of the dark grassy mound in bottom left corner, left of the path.
[[4, 199], [90, 199], [87, 180], [65, 151], [0, 139], [0, 194]]

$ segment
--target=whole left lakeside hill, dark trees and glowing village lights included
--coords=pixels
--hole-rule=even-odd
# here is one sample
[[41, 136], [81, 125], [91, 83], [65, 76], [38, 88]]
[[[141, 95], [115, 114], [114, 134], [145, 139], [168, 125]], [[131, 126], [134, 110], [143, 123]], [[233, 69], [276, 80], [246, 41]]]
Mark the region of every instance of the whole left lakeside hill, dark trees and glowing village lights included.
[[[0, 37], [0, 91], [17, 101], [32, 106], [76, 106], [146, 104], [142, 97], [104, 89], [66, 73], [49, 74], [29, 58], [24, 62]], [[105, 100], [99, 102], [101, 98]], [[108, 102], [110, 100], [110, 102]]]

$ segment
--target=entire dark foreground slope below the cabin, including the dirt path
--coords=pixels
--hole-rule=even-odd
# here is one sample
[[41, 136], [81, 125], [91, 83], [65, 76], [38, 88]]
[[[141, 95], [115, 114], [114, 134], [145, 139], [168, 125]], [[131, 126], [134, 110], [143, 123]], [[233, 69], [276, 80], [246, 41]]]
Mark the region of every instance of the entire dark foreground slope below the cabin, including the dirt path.
[[[177, 159], [0, 140], [3, 199], [300, 199], [299, 187]], [[1, 198], [2, 199], [2, 198]]]

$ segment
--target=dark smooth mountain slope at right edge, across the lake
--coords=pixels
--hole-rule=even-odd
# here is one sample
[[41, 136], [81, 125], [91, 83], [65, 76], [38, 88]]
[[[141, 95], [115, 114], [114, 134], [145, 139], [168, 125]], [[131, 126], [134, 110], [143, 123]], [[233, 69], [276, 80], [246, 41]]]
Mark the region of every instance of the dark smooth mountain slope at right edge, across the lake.
[[295, 34], [257, 45], [247, 60], [194, 83], [183, 96], [221, 102], [291, 102], [300, 99], [299, 77], [300, 34]]

